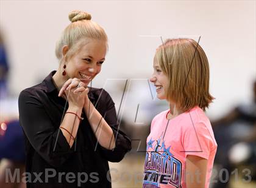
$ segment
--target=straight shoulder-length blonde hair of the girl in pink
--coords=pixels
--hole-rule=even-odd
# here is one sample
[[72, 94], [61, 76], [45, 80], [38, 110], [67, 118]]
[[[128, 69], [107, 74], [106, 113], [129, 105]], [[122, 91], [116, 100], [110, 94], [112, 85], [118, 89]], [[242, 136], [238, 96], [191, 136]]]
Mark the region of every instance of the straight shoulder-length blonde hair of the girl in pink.
[[182, 112], [194, 106], [205, 110], [214, 98], [209, 93], [209, 65], [202, 47], [193, 39], [167, 39], [156, 56], [169, 79], [167, 99], [175, 101]]

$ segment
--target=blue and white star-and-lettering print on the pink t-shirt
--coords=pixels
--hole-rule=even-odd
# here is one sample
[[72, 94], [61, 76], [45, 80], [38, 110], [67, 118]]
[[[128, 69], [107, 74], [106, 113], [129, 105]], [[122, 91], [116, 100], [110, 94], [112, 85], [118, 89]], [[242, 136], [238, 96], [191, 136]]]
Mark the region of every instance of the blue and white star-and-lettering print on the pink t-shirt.
[[160, 184], [181, 187], [182, 163], [170, 152], [171, 146], [166, 148], [162, 135], [147, 143], [143, 188], [158, 188]]

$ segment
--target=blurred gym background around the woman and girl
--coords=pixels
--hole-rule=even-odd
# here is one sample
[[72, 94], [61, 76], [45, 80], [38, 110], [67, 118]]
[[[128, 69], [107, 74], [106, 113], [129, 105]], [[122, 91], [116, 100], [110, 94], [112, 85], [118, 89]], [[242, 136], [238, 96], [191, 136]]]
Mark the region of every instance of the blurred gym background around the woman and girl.
[[148, 81], [161, 37], [199, 36], [216, 98], [207, 110], [218, 143], [211, 187], [256, 187], [256, 1], [23, 0], [0, 0], [0, 187], [25, 187], [4, 183], [4, 169], [24, 170], [18, 95], [57, 69], [55, 42], [77, 9], [108, 35], [106, 61], [91, 84], [110, 93], [132, 139], [123, 161], [110, 163], [113, 187], [141, 187], [151, 120], [168, 109]]

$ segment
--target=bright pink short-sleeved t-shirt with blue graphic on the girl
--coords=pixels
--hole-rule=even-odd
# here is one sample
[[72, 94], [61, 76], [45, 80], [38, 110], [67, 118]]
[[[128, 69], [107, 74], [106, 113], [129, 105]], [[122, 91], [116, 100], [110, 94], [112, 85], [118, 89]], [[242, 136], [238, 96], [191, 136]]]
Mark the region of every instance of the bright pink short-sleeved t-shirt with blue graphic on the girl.
[[[159, 113], [151, 123], [143, 187], [186, 187], [187, 155], [208, 160], [205, 181], [205, 187], [208, 187], [217, 150], [209, 119], [199, 107], [170, 120], [166, 119], [167, 113], [168, 110]], [[193, 180], [197, 180], [196, 176]]]

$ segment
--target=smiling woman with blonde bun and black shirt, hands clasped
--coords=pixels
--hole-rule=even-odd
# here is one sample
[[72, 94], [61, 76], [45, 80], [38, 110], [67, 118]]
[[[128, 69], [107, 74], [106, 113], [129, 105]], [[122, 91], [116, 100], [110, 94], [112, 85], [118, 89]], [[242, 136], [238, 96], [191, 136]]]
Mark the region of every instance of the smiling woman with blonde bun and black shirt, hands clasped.
[[27, 187], [111, 187], [108, 161], [130, 150], [110, 95], [87, 87], [101, 72], [107, 35], [88, 13], [73, 11], [69, 20], [55, 49], [57, 71], [20, 93]]

